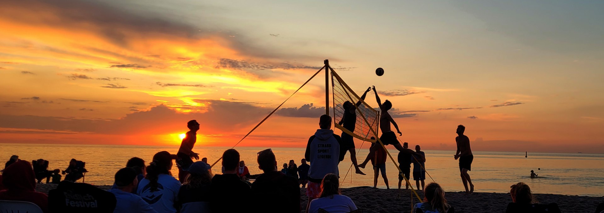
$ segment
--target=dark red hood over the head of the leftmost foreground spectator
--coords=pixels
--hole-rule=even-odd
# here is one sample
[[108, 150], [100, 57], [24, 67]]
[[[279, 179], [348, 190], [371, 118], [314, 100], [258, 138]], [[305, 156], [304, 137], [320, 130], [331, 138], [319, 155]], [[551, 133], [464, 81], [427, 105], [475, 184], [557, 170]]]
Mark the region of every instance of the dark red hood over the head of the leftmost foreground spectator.
[[2, 184], [9, 191], [36, 191], [36, 176], [30, 162], [17, 161], [2, 173]]

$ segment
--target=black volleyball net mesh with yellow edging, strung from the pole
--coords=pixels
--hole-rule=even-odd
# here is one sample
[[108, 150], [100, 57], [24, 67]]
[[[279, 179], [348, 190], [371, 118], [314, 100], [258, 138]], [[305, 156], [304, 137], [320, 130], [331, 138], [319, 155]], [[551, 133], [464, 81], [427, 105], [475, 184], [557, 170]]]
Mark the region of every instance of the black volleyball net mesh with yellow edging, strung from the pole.
[[[374, 110], [367, 103], [361, 101], [354, 91], [348, 87], [345, 82], [339, 78], [338, 74], [332, 71], [332, 88], [333, 88], [333, 121], [338, 129], [345, 132], [344, 127], [338, 125], [338, 123], [344, 117], [344, 102], [349, 101], [351, 103], [361, 103], [358, 105], [356, 110], [356, 123], [355, 130], [352, 132], [352, 136], [364, 141], [374, 142], [371, 140], [374, 132], [377, 134], [377, 121], [379, 118], [379, 111]], [[373, 131], [371, 131], [373, 129]]]

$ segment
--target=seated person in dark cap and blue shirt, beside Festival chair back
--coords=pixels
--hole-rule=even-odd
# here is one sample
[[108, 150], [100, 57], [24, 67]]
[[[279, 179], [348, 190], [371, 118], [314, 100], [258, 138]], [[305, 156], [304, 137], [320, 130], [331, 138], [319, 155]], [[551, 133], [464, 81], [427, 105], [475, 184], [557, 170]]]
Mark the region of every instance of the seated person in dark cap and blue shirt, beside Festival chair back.
[[145, 202], [140, 196], [132, 194], [132, 191], [137, 188], [138, 172], [132, 167], [122, 168], [115, 173], [116, 189], [108, 190], [115, 195], [117, 203], [115, 203], [114, 213], [157, 213], [149, 203]]

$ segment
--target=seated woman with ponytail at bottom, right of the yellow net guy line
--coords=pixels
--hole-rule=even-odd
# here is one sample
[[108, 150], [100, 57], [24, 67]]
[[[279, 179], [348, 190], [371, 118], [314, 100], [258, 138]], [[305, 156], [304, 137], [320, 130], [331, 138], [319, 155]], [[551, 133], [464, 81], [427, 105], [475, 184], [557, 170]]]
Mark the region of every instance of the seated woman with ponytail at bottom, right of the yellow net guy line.
[[447, 204], [445, 190], [437, 183], [430, 183], [423, 190], [423, 203], [413, 206], [413, 213], [453, 213], [454, 208]]

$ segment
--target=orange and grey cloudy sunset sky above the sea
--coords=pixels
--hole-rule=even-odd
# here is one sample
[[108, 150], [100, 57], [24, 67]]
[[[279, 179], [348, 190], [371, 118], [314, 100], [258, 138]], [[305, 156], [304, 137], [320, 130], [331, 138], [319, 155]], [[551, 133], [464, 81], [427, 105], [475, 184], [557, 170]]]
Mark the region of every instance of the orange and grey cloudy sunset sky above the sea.
[[[454, 150], [463, 124], [475, 150], [604, 153], [602, 8], [5, 1], [0, 142], [176, 145], [195, 119], [197, 146], [233, 146], [329, 59], [359, 96], [391, 100], [423, 149]], [[240, 146], [306, 146], [324, 90], [321, 73]]]

